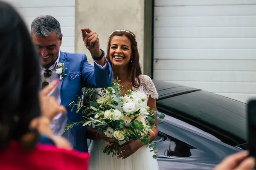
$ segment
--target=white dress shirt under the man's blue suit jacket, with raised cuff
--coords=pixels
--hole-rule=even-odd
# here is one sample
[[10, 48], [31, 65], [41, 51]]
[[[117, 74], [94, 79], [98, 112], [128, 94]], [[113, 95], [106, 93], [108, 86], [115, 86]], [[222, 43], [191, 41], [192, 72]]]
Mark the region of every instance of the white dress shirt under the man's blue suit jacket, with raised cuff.
[[[51, 83], [52, 81], [58, 79], [58, 74], [55, 73], [55, 70], [58, 68], [58, 62], [60, 59], [60, 51], [58, 54], [58, 59], [55, 61], [55, 63], [53, 65], [51, 65], [48, 69], [52, 70], [52, 75], [49, 78], [46, 78], [47, 82]], [[94, 64], [97, 64], [96, 62], [94, 62]], [[101, 65], [97, 64], [99, 66], [99, 68], [101, 69], [105, 69], [107, 67], [107, 62], [105, 62], [105, 65], [102, 67]], [[44, 81], [44, 71], [46, 69], [41, 67], [41, 83]], [[59, 104], [61, 104], [61, 97], [58, 91], [58, 88], [55, 88], [53, 91], [50, 92], [49, 96], [54, 96], [55, 99], [57, 100], [57, 102]], [[70, 101], [71, 102], [71, 101]], [[52, 123], [50, 125], [52, 133], [54, 135], [57, 136], [61, 136], [64, 130], [64, 127], [67, 125], [67, 115], [63, 115], [61, 113], [59, 113], [58, 115], [56, 115], [53, 120]]]

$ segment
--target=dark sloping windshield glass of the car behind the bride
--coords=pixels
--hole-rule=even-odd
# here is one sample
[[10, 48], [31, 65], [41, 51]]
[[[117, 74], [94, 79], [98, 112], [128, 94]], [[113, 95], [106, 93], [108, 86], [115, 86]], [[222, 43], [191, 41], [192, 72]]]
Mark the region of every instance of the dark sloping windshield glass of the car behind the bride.
[[160, 99], [157, 105], [195, 117], [247, 141], [245, 103], [207, 91], [196, 91]]

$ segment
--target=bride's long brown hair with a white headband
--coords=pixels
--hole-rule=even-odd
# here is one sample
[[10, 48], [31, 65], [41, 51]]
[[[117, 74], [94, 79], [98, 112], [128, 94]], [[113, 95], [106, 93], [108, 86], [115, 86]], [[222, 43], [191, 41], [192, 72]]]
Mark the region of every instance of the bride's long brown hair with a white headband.
[[[135, 35], [128, 30], [119, 30], [119, 31], [114, 31], [111, 36], [108, 38], [108, 51], [107, 51], [107, 59], [108, 62], [111, 64], [111, 67], [113, 68], [112, 62], [110, 60], [110, 56], [109, 56], [109, 51], [110, 51], [110, 46], [111, 46], [111, 40], [113, 39], [113, 36], [125, 36], [127, 37], [130, 42], [131, 42], [131, 59], [132, 62], [128, 63], [128, 73], [130, 73], [130, 75], [128, 75], [128, 80], [131, 81], [131, 85], [134, 88], [138, 88], [140, 86], [140, 79], [139, 76], [142, 74], [141, 71], [141, 66], [140, 66], [140, 62], [139, 62], [139, 51], [138, 51], [138, 47], [137, 47], [137, 40]], [[137, 81], [136, 81], [137, 78]]]

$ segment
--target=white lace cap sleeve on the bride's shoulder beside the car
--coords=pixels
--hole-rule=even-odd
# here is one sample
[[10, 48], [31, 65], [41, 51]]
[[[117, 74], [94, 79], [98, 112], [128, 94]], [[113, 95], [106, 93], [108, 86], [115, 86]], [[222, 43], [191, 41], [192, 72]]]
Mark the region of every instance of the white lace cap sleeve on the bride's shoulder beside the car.
[[150, 96], [153, 99], [158, 99], [157, 89], [154, 86], [151, 78], [147, 75], [140, 75], [140, 87], [137, 90], [145, 93], [148, 97]]

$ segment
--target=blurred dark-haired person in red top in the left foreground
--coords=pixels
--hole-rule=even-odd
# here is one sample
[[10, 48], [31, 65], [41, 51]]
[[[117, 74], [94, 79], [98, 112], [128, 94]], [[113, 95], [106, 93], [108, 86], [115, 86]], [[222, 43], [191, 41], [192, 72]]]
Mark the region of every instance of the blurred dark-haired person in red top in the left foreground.
[[58, 81], [39, 94], [39, 59], [26, 25], [1, 1], [0, 18], [0, 169], [86, 170], [88, 153], [71, 150], [66, 139], [50, 130], [53, 117], [66, 113], [48, 96]]

